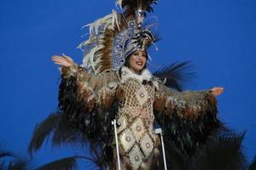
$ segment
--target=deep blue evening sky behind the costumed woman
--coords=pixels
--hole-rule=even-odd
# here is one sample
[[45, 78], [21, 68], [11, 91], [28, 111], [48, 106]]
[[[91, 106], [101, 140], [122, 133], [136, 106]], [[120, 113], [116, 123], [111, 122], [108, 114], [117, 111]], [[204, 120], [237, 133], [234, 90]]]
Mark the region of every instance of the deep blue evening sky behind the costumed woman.
[[[1, 144], [26, 156], [33, 128], [57, 105], [59, 71], [50, 56], [64, 53], [81, 63], [76, 47], [88, 33], [81, 27], [112, 8], [113, 0], [1, 0]], [[224, 87], [219, 117], [237, 132], [247, 131], [243, 144], [249, 161], [256, 154], [255, 8], [255, 0], [160, 1], [154, 5], [160, 50], [150, 50], [154, 65], [192, 60], [197, 77], [185, 88]], [[81, 151], [45, 144], [32, 165], [74, 153]]]

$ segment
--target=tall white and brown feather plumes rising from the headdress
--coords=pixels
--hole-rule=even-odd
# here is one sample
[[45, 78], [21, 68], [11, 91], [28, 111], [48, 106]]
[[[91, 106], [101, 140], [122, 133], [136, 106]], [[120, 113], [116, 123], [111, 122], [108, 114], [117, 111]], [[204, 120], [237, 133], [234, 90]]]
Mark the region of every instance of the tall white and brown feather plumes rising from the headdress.
[[157, 3], [156, 0], [117, 0], [116, 2], [122, 8], [123, 14], [118, 14], [113, 10], [112, 14], [108, 14], [93, 23], [90, 23], [89, 40], [79, 44], [78, 48], [84, 51], [83, 65], [87, 71], [95, 75], [102, 71], [111, 70], [112, 63], [112, 48], [114, 37], [120, 31], [127, 28], [127, 22], [136, 20], [138, 8], [153, 12], [152, 3]]

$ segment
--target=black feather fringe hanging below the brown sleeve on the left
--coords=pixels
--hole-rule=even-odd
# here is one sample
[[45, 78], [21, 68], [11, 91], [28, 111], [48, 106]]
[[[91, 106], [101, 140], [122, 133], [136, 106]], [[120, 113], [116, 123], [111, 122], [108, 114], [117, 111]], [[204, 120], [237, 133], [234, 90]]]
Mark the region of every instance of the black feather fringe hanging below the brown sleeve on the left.
[[111, 121], [118, 112], [118, 104], [114, 103], [108, 111], [98, 107], [92, 111], [87, 111], [84, 103], [78, 101], [76, 89], [76, 82], [73, 77], [62, 79], [59, 92], [59, 109], [67, 117], [69, 125], [84, 133], [90, 144], [90, 150], [96, 155], [97, 151], [102, 150], [103, 152], [104, 147], [110, 143], [109, 137], [113, 135]]

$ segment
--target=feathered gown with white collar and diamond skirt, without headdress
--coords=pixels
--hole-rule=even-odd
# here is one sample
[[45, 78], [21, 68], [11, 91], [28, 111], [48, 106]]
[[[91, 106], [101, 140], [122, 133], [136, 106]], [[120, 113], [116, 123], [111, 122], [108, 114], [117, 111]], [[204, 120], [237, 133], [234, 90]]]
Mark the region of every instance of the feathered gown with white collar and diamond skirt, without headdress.
[[[113, 118], [118, 123], [121, 169], [135, 170], [157, 166], [160, 139], [154, 133], [155, 117], [183, 150], [189, 148], [184, 142], [188, 137], [196, 145], [218, 125], [217, 101], [210, 90], [178, 92], [148, 69], [137, 75], [123, 66], [93, 76], [75, 65], [63, 67], [61, 73], [60, 109], [92, 139], [91, 144], [103, 143], [110, 169], [116, 168]], [[108, 147], [111, 154], [105, 151]]]

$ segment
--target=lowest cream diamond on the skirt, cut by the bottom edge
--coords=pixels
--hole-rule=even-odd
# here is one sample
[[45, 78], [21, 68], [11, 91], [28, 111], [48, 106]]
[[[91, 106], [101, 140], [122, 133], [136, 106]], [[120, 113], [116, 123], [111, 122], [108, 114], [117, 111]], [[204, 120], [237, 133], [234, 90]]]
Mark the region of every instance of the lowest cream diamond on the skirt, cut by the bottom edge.
[[131, 149], [131, 152], [129, 153], [129, 161], [131, 162], [132, 169], [135, 170], [139, 169], [144, 161], [143, 153], [137, 144], [134, 145], [134, 147]]

